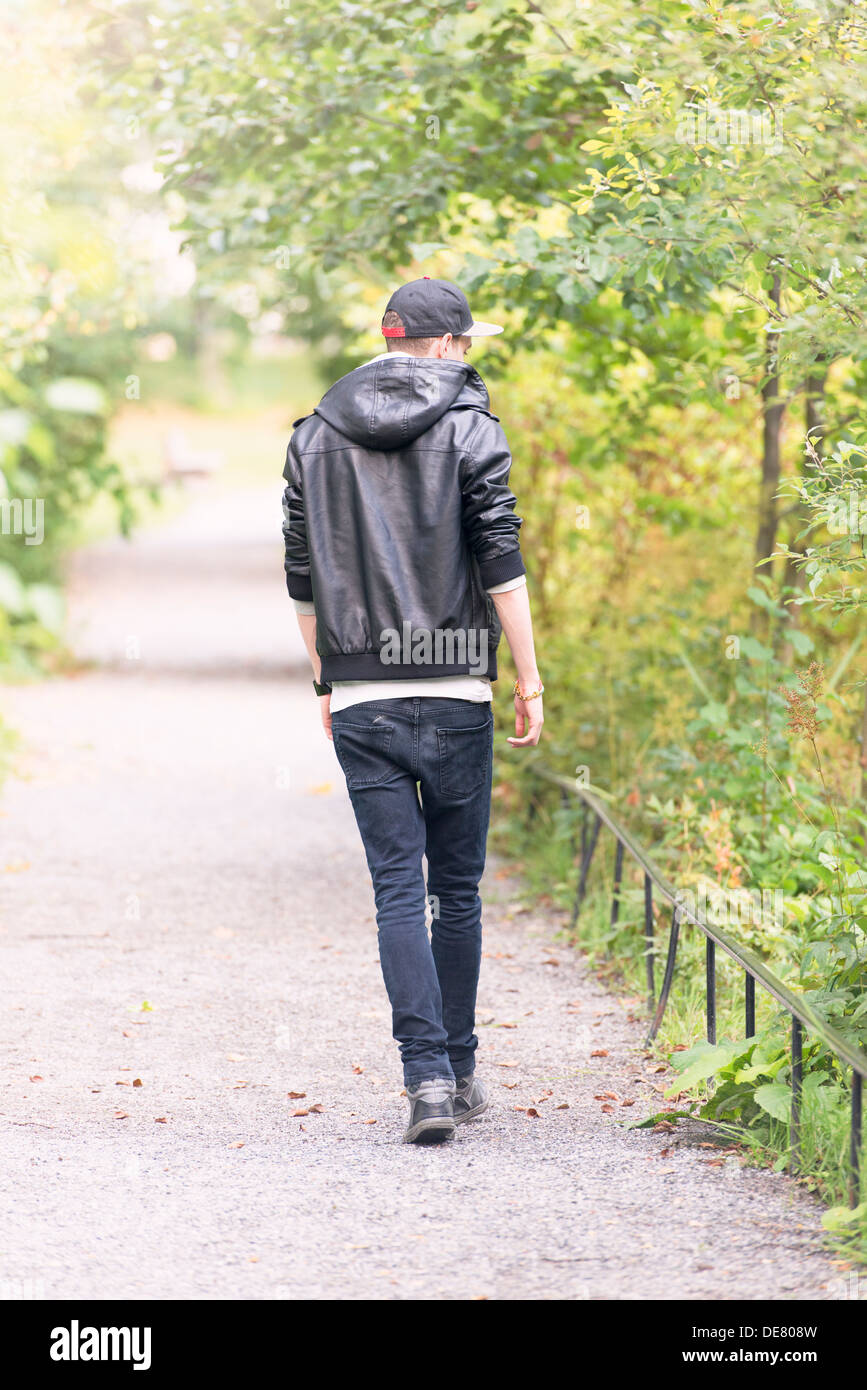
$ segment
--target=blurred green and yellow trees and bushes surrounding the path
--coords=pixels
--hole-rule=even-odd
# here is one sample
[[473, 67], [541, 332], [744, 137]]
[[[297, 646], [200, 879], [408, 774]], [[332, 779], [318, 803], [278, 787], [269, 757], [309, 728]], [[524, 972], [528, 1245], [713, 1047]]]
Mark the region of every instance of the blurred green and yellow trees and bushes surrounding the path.
[[[507, 325], [471, 360], [513, 446], [547, 760], [678, 885], [781, 890], [745, 940], [864, 1044], [866, 21], [8, 6], [0, 467], [46, 539], [0, 535], [0, 664], [57, 662], [60, 560], [174, 496], [168, 434], [226, 453], [217, 485], [276, 488], [290, 420], [381, 349], [390, 286], [459, 279]], [[500, 844], [565, 901], [571, 828], [531, 788], [499, 760]], [[609, 940], [592, 899], [586, 922], [632, 979], [635, 922]]]

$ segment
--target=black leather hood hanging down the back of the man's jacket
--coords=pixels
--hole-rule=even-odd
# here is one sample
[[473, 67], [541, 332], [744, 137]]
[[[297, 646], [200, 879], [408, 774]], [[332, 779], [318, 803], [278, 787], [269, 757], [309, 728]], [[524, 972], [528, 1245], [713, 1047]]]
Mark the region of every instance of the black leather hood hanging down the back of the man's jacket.
[[314, 414], [365, 449], [397, 449], [456, 404], [489, 413], [488, 391], [475, 367], [447, 357], [395, 354], [340, 377]]

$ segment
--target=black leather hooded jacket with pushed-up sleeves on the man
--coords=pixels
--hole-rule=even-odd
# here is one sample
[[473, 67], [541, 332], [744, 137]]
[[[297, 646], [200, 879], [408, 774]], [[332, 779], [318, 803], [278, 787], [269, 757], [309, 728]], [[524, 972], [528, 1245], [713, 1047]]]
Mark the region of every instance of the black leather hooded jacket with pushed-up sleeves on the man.
[[496, 680], [485, 591], [524, 562], [511, 455], [479, 374], [450, 359], [368, 363], [295, 425], [286, 582], [314, 603], [322, 682]]

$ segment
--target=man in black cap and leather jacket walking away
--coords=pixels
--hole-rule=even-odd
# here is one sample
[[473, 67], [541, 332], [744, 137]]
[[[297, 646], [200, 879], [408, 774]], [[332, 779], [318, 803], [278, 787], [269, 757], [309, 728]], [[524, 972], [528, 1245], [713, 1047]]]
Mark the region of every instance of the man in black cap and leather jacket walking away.
[[500, 331], [449, 281], [402, 285], [388, 352], [296, 420], [283, 468], [286, 581], [374, 883], [408, 1143], [489, 1105], [474, 1027], [500, 631], [518, 676], [509, 742], [542, 733], [511, 456], [464, 360]]

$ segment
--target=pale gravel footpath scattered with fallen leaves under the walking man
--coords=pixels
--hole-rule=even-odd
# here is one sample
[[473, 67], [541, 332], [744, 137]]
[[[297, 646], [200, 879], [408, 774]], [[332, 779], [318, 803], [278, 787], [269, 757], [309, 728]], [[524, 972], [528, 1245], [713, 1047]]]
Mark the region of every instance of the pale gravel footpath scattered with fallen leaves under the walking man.
[[0, 803], [0, 1297], [838, 1297], [786, 1177], [624, 1129], [670, 1079], [496, 863], [495, 1109], [400, 1143], [370, 878], [279, 516], [279, 488], [206, 491], [79, 556], [94, 664], [3, 692], [22, 744]]

